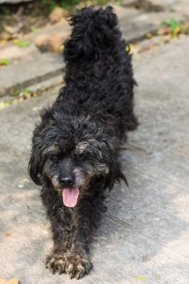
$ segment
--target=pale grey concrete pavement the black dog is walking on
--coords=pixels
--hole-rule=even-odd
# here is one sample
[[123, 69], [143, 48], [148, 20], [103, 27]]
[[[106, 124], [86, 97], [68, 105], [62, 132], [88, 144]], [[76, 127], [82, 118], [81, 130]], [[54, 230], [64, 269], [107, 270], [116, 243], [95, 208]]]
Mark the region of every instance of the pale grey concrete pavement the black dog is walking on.
[[122, 165], [130, 188], [116, 185], [91, 244], [93, 269], [81, 280], [51, 275], [49, 222], [40, 187], [27, 173], [35, 121], [58, 88], [0, 112], [0, 277], [21, 284], [185, 284], [188, 262], [189, 37], [134, 59], [139, 128]]

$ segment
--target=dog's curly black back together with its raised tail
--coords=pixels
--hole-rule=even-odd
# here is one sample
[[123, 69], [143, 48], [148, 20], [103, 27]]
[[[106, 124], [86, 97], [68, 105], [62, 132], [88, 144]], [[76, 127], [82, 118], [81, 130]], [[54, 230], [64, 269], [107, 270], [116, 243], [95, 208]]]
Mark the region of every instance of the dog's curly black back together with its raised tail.
[[110, 119], [122, 133], [135, 129], [131, 56], [112, 7], [81, 9], [70, 24], [71, 37], [64, 44], [66, 87], [58, 104]]

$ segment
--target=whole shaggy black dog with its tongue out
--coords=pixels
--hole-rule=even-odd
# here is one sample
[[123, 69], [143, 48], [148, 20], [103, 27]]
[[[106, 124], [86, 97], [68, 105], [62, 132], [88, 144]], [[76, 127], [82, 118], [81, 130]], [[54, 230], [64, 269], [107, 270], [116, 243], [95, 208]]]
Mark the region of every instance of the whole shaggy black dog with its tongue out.
[[137, 119], [131, 57], [113, 9], [84, 8], [70, 23], [66, 86], [42, 110], [29, 173], [42, 185], [55, 243], [46, 266], [79, 279], [91, 268], [88, 241], [105, 211], [104, 190], [126, 182], [118, 155]]

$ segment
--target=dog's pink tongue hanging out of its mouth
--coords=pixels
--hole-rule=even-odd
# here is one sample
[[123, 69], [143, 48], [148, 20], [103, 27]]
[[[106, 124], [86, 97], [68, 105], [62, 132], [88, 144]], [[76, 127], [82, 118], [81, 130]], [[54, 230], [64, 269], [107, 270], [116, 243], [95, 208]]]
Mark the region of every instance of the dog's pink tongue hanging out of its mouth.
[[76, 206], [77, 198], [79, 195], [79, 188], [64, 188], [62, 192], [64, 205], [67, 207]]

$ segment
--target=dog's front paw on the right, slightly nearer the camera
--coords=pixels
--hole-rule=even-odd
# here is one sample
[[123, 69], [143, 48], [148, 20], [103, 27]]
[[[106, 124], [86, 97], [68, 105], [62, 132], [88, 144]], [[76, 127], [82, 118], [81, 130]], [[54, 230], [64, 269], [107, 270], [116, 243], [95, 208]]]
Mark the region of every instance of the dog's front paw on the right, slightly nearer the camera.
[[65, 271], [70, 279], [74, 277], [80, 279], [84, 277], [85, 274], [88, 274], [91, 267], [92, 264], [87, 258], [81, 256], [69, 256], [69, 258], [67, 258]]

